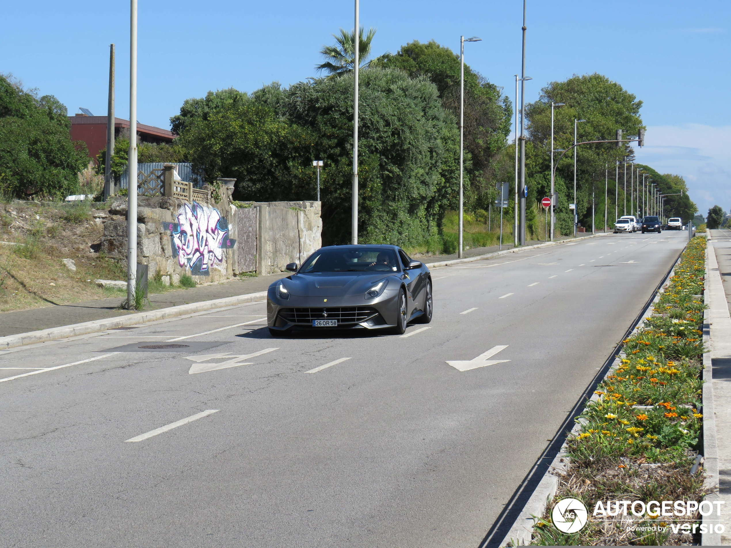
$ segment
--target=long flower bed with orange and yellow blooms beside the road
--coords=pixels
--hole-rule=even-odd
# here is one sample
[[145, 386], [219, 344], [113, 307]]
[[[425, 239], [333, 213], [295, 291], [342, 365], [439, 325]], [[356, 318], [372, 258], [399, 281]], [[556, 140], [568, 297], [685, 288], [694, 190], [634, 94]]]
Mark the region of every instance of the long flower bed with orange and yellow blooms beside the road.
[[[701, 443], [704, 274], [705, 238], [695, 237], [654, 313], [623, 341], [620, 364], [577, 419], [580, 427], [567, 440], [570, 464], [534, 527], [532, 544], [694, 541], [692, 533], [677, 526], [697, 522], [697, 513], [682, 519], [646, 512], [592, 514], [600, 501], [701, 501], [706, 494], [702, 473], [690, 474]], [[588, 509], [587, 525], [573, 535], [559, 532], [550, 519], [554, 504], [564, 497], [577, 498]]]

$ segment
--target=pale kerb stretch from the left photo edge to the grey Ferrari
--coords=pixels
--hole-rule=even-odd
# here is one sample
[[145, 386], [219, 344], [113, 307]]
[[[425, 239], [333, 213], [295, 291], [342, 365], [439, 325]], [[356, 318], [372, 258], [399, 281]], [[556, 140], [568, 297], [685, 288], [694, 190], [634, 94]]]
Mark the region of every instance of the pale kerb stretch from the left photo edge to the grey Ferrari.
[[267, 292], [262, 291], [258, 293], [237, 295], [235, 297], [224, 297], [223, 299], [191, 302], [188, 305], [170, 306], [169, 308], [161, 308], [159, 310], [149, 312], [138, 312], [135, 314], [128, 314], [127, 316], [117, 316], [116, 318], [85, 321], [81, 324], [51, 327], [47, 330], [18, 333], [18, 335], [8, 335], [7, 337], [0, 337], [0, 349], [4, 350], [10, 349], [14, 346], [45, 343], [49, 340], [75, 337], [77, 335], [88, 335], [88, 333], [110, 330], [114, 329], [115, 327], [126, 327], [128, 325], [145, 324], [148, 321], [172, 318], [175, 316], [184, 316], [185, 314], [204, 312], [208, 310], [213, 310], [214, 308], [224, 308], [226, 306], [232, 305], [243, 305], [247, 302], [265, 300], [266, 297]]

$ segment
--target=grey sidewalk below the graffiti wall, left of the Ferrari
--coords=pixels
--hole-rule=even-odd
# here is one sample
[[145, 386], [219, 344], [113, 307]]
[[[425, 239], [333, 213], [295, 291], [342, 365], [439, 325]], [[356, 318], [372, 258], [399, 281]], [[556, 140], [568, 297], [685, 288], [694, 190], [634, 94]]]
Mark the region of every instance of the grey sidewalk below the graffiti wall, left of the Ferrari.
[[[173, 289], [166, 293], [150, 294], [150, 304], [145, 307], [145, 310], [152, 311], [159, 308], [185, 305], [190, 302], [222, 299], [224, 297], [266, 291], [270, 283], [288, 274], [279, 273], [257, 278], [237, 278], [223, 283], [211, 283], [210, 285], [190, 289]], [[0, 313], [0, 337], [135, 313], [135, 311], [119, 310], [117, 307], [122, 301], [124, 301], [124, 296]]]

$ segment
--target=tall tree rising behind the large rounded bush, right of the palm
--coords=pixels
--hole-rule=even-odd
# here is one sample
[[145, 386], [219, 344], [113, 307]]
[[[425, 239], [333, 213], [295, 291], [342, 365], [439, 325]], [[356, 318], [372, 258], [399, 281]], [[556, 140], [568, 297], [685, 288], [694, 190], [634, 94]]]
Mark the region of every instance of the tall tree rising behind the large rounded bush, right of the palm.
[[[379, 61], [409, 77], [427, 77], [436, 85], [442, 106], [459, 117], [460, 58], [435, 41], [417, 40]], [[496, 199], [499, 162], [510, 134], [512, 104], [501, 88], [464, 66], [465, 197], [469, 209], [487, 209]]]

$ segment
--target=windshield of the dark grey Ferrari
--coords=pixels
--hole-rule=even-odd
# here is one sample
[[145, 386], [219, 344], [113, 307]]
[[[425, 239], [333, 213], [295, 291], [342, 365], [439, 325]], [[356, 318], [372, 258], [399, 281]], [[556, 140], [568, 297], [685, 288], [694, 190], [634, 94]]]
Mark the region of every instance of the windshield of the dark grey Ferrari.
[[393, 249], [322, 248], [304, 262], [303, 273], [322, 272], [395, 272], [398, 258]]

